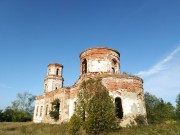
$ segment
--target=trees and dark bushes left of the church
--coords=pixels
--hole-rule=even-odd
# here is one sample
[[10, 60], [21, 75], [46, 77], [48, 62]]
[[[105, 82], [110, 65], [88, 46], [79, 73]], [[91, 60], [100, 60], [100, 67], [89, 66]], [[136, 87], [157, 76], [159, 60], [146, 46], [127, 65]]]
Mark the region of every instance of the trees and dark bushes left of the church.
[[11, 106], [0, 110], [0, 122], [27, 122], [32, 121], [35, 96], [28, 92], [18, 93], [17, 99]]

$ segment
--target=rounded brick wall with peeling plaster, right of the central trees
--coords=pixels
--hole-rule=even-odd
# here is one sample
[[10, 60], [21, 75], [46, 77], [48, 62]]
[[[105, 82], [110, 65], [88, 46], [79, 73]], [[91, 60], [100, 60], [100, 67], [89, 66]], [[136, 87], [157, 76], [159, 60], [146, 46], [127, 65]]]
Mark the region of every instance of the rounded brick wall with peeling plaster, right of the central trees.
[[106, 77], [102, 79], [102, 83], [114, 99], [120, 98], [122, 101], [121, 126], [130, 124], [137, 115], [146, 116], [143, 82], [140, 78], [133, 76]]

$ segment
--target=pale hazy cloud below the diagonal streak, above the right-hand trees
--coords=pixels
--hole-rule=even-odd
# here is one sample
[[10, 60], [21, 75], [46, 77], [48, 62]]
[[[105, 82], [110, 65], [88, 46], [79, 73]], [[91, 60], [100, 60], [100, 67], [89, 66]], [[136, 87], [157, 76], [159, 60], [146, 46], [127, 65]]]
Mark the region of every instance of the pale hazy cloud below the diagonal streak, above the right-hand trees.
[[144, 79], [144, 90], [175, 105], [176, 96], [180, 93], [180, 64], [173, 63], [169, 68]]

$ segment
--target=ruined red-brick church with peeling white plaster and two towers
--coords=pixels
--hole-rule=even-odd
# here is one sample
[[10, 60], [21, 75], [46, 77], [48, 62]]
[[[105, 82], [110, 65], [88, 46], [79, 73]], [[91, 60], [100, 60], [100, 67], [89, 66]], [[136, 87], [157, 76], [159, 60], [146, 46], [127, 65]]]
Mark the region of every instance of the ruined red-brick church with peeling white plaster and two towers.
[[[44, 90], [36, 97], [35, 123], [68, 122], [76, 107], [77, 94], [82, 81], [101, 77], [102, 84], [109, 90], [114, 99], [120, 125], [126, 126], [134, 121], [137, 115], [146, 116], [143, 80], [137, 76], [120, 74], [120, 53], [110, 48], [90, 48], [80, 54], [80, 76], [71, 86], [63, 86], [63, 65], [48, 65], [44, 79]], [[49, 115], [51, 102], [60, 100], [59, 120], [54, 121]]]

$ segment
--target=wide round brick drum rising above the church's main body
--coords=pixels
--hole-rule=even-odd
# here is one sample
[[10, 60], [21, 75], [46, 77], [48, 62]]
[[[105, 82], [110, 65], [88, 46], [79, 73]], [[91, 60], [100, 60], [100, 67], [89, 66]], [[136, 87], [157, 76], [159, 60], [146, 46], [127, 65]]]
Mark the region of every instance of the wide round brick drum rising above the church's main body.
[[120, 53], [117, 50], [96, 47], [80, 54], [81, 75], [87, 73], [120, 73]]

